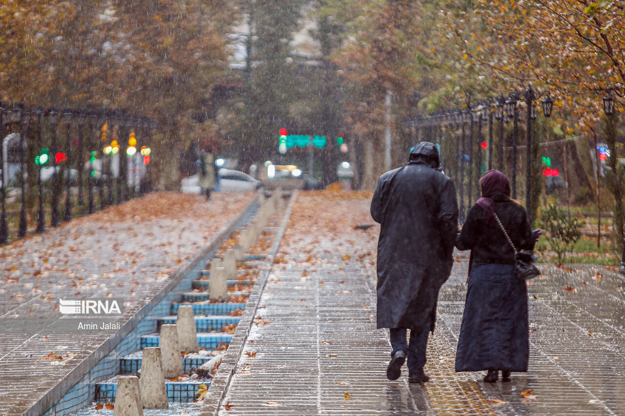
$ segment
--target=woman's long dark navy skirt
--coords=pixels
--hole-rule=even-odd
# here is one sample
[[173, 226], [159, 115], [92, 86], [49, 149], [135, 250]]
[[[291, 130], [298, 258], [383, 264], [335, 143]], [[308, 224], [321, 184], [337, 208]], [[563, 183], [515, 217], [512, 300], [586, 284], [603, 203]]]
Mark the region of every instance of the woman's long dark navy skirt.
[[474, 263], [462, 315], [456, 372], [527, 371], [527, 289], [514, 265]]

